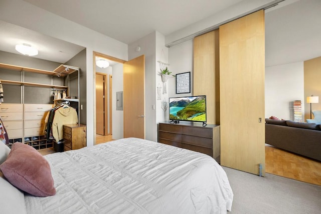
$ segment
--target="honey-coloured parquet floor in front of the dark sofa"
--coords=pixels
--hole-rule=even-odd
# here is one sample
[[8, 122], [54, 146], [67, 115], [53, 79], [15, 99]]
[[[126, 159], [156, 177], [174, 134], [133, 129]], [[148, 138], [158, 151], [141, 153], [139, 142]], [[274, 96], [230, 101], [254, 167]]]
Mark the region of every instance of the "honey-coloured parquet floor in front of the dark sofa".
[[321, 161], [265, 144], [265, 172], [321, 185]]

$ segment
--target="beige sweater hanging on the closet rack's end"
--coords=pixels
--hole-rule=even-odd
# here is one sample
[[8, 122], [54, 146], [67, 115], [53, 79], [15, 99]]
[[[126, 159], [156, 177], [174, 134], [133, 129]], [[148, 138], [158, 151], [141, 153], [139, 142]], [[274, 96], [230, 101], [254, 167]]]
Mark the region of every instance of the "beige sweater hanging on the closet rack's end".
[[55, 111], [52, 122], [52, 135], [56, 142], [64, 138], [63, 125], [78, 123], [78, 115], [76, 109], [72, 107], [61, 107]]

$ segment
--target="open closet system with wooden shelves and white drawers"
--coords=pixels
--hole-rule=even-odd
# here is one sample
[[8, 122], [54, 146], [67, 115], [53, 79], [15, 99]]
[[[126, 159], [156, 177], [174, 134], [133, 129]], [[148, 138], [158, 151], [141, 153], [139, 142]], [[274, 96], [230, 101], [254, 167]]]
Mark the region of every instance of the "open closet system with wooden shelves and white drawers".
[[[79, 73], [78, 67], [68, 65], [47, 71], [0, 63], [5, 101], [0, 105], [0, 116], [10, 143], [22, 142], [36, 149], [53, 147], [53, 140], [45, 136], [45, 118], [47, 112], [61, 100], [67, 100], [77, 110], [80, 124]], [[78, 90], [78, 96], [69, 96], [71, 88]], [[57, 100], [55, 92], [65, 92], [67, 98]]]

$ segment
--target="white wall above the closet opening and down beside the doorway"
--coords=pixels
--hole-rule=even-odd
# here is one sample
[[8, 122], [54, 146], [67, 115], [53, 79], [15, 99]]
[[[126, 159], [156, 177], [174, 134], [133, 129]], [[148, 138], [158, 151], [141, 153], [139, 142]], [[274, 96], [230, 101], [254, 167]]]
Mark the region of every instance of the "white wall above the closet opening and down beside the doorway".
[[87, 146], [92, 146], [95, 141], [93, 51], [127, 60], [127, 45], [22, 0], [2, 0], [0, 20], [87, 48]]

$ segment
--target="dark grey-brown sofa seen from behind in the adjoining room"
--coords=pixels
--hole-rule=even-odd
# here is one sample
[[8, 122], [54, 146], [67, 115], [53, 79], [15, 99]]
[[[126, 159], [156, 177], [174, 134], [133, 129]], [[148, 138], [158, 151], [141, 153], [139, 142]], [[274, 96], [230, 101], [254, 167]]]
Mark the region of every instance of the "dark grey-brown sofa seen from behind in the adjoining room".
[[321, 128], [315, 123], [265, 119], [269, 145], [321, 161]]

